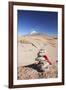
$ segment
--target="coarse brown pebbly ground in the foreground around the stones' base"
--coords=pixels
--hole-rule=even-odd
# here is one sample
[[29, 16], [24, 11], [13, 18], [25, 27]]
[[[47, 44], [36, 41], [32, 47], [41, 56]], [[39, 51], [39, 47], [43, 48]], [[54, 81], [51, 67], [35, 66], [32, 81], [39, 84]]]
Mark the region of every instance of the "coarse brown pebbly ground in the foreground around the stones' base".
[[43, 72], [39, 72], [34, 64], [29, 66], [18, 67], [18, 79], [41, 79], [41, 78], [56, 78], [58, 75], [57, 64], [49, 66], [49, 69]]

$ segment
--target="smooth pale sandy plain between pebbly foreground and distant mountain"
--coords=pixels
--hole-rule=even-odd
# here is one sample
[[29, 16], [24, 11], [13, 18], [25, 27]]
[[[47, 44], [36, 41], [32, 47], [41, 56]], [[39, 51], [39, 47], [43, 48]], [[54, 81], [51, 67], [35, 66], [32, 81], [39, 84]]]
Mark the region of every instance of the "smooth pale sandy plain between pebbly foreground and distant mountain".
[[18, 67], [35, 63], [41, 48], [46, 50], [52, 62], [57, 60], [57, 39], [43, 36], [18, 37]]

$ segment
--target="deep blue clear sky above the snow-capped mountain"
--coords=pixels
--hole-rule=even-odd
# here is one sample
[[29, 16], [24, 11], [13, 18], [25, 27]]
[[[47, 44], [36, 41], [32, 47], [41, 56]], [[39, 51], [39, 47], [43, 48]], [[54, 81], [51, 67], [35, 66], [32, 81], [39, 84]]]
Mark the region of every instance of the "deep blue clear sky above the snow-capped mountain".
[[18, 36], [26, 35], [32, 31], [57, 35], [58, 13], [46, 11], [17, 11]]

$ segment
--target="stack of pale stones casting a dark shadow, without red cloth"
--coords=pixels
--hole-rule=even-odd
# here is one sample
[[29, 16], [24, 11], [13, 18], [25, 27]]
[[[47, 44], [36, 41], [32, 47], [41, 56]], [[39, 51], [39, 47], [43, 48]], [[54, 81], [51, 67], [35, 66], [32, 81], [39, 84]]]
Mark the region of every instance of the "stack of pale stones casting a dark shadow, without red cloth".
[[47, 60], [44, 58], [45, 55], [45, 49], [41, 49], [37, 55], [36, 61], [38, 62], [37, 64], [37, 69], [39, 72], [44, 72], [48, 70], [49, 68], [49, 63]]

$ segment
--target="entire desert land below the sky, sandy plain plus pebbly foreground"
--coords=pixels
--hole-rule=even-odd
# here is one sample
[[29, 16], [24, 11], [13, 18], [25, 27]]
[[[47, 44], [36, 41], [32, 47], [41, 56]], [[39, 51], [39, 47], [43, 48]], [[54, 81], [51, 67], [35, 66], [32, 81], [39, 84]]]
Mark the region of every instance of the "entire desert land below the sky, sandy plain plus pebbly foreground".
[[[39, 72], [35, 59], [40, 49], [46, 50], [52, 65], [44, 72]], [[48, 35], [27, 35], [18, 37], [18, 79], [56, 78], [57, 37]]]

